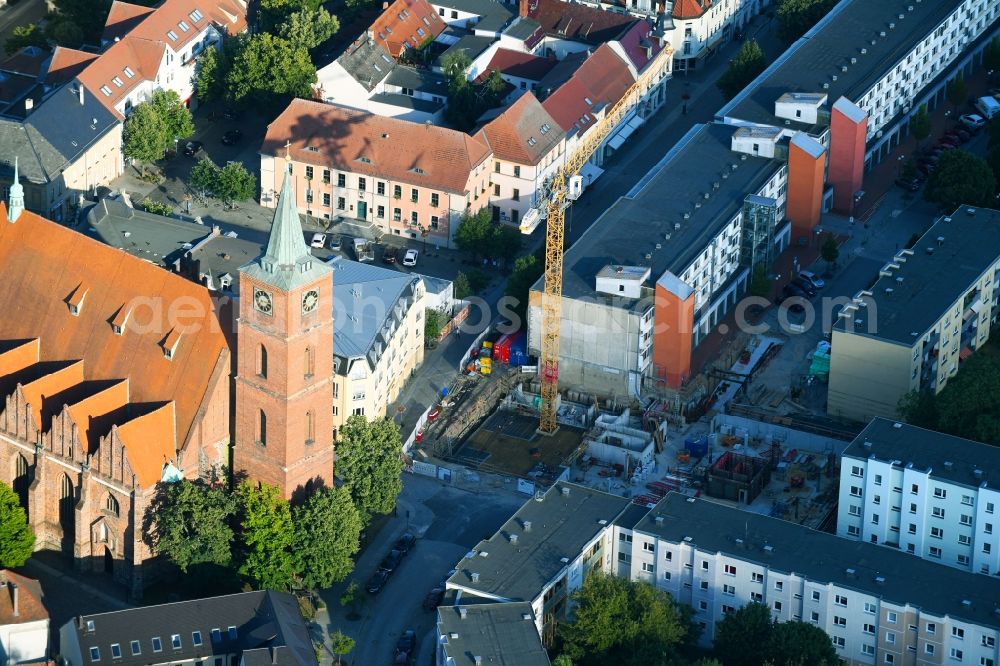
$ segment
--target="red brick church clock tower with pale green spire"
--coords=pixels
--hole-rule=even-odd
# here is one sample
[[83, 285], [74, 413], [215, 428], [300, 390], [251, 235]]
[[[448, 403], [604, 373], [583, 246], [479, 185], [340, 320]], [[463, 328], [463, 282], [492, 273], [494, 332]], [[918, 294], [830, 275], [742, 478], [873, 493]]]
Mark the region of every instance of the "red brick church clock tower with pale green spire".
[[233, 467], [286, 498], [333, 485], [333, 271], [303, 238], [286, 167], [264, 254], [240, 269]]

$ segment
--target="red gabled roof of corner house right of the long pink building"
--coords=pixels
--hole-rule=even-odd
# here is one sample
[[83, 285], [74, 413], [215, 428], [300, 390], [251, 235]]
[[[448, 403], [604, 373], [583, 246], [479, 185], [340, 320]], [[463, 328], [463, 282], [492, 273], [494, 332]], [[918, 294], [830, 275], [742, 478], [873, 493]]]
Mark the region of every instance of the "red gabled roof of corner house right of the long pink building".
[[537, 165], [566, 136], [530, 92], [487, 123], [483, 133], [495, 157], [526, 166]]

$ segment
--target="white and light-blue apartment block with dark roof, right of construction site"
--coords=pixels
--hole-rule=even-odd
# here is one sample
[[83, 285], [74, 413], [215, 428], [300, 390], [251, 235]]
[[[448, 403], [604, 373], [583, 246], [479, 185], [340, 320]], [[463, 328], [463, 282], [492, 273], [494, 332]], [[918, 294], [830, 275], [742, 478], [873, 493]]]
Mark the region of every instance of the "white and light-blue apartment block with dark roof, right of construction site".
[[837, 535], [1000, 574], [998, 469], [995, 446], [876, 418], [844, 451]]

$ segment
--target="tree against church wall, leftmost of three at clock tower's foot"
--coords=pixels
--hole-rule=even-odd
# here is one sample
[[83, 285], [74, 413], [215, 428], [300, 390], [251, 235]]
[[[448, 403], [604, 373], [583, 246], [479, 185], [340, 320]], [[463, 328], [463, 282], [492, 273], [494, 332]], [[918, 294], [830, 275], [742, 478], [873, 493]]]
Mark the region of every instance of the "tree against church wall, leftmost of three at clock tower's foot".
[[198, 564], [228, 566], [235, 508], [221, 487], [187, 480], [160, 484], [143, 518], [143, 539], [183, 572]]

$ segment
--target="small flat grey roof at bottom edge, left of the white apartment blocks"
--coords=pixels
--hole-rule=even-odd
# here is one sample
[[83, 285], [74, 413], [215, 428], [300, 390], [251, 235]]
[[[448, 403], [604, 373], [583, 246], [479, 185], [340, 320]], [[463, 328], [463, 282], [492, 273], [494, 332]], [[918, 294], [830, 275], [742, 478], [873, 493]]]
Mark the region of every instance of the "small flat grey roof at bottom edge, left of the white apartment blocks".
[[551, 663], [527, 602], [442, 606], [438, 608], [438, 629], [448, 636], [441, 648], [455, 666], [475, 666], [475, 657], [482, 657], [483, 664], [497, 666]]

